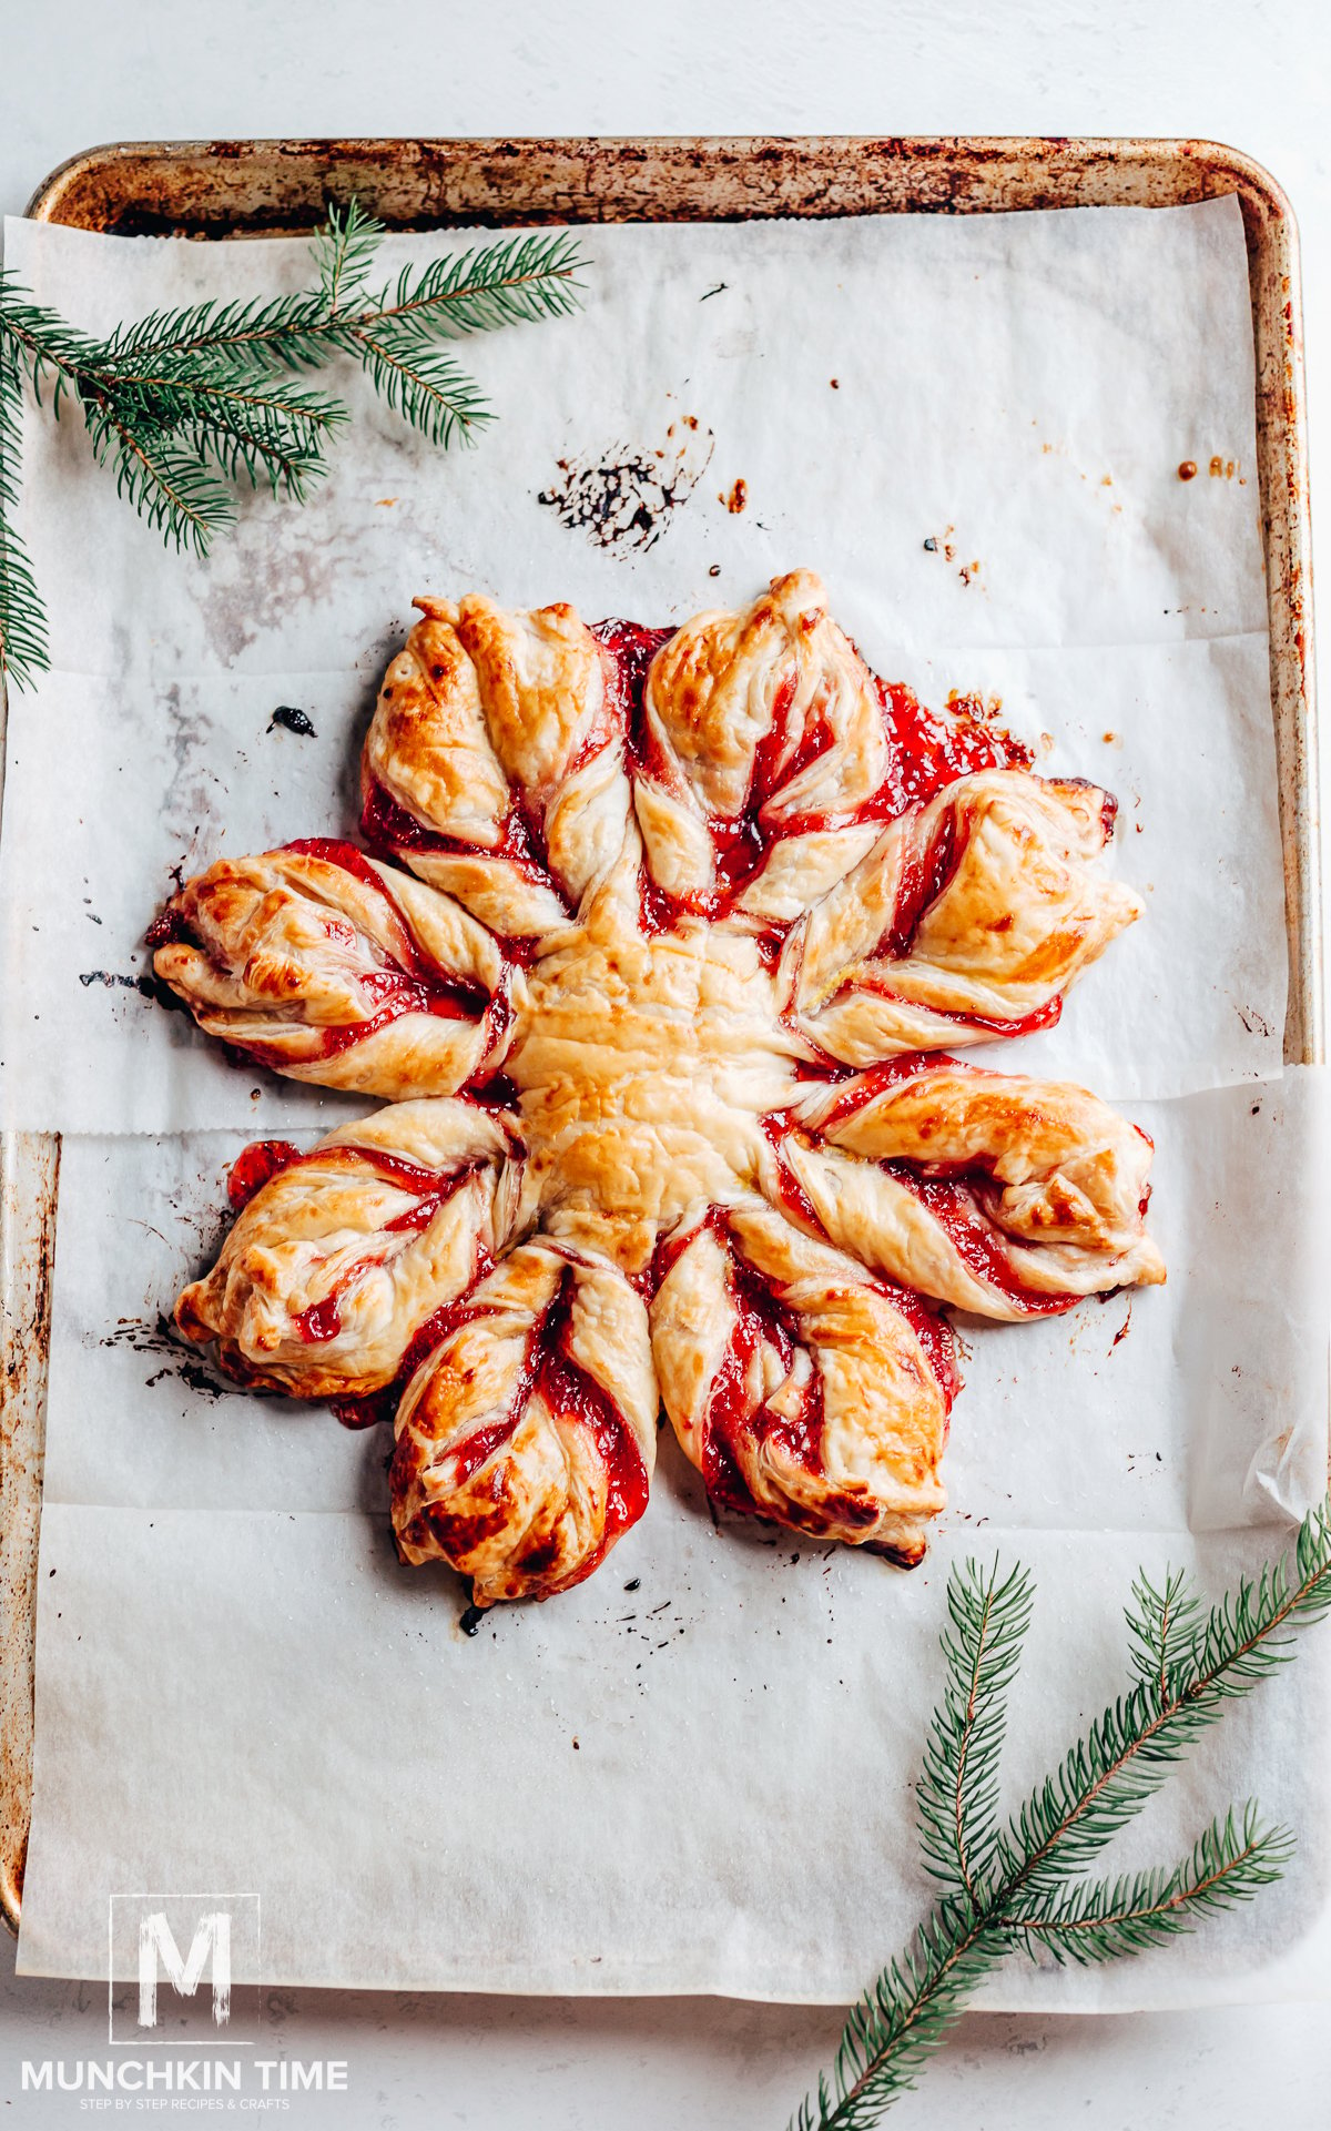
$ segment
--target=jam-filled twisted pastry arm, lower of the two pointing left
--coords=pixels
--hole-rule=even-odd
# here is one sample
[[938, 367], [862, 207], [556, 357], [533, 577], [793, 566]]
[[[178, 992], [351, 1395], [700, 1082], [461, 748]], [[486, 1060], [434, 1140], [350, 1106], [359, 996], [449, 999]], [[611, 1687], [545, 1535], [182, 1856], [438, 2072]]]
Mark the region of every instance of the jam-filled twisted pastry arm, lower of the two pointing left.
[[[266, 1181], [249, 1187], [266, 1174]], [[232, 1170], [243, 1204], [217, 1264], [175, 1317], [239, 1383], [364, 1398], [524, 1221], [522, 1144], [469, 1102], [400, 1102], [309, 1155], [258, 1142]]]

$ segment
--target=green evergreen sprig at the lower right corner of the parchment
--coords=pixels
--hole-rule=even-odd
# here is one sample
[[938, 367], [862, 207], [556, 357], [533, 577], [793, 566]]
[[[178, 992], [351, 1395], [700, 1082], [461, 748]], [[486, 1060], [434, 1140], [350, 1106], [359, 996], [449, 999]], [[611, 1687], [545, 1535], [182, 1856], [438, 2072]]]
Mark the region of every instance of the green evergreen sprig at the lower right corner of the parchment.
[[1007, 1690], [1031, 1620], [1018, 1566], [967, 1562], [948, 1579], [946, 1683], [918, 1784], [920, 1848], [939, 1882], [933, 1912], [852, 2007], [831, 2073], [794, 2131], [867, 2131], [911, 2088], [975, 1986], [1016, 1948], [1099, 1963], [1163, 1946], [1280, 1880], [1293, 1835], [1248, 1801], [1216, 1816], [1171, 1867], [1086, 1877], [1090, 1860], [1216, 1724], [1295, 1654], [1295, 1632], [1331, 1611], [1331, 1498], [1293, 1553], [1244, 1577], [1218, 1605], [1184, 1573], [1141, 1573], [1127, 1607], [1133, 1683], [1090, 1724], [1012, 1820], [999, 1822]]

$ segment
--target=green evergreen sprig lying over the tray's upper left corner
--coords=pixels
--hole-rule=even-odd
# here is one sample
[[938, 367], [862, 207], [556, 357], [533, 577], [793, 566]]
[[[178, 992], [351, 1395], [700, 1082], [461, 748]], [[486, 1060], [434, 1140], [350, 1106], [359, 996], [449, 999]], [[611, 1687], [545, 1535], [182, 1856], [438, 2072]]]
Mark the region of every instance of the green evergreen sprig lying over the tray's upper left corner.
[[405, 266], [371, 288], [383, 224], [351, 200], [313, 243], [319, 286], [249, 303], [151, 311], [104, 339], [79, 332], [0, 271], [0, 682], [45, 671], [47, 622], [15, 531], [21, 409], [30, 388], [60, 418], [75, 401], [94, 458], [175, 548], [207, 554], [232, 524], [241, 484], [302, 503], [349, 420], [343, 401], [298, 381], [351, 358], [430, 443], [471, 443], [494, 420], [449, 343], [579, 305], [571, 237], [526, 232]]

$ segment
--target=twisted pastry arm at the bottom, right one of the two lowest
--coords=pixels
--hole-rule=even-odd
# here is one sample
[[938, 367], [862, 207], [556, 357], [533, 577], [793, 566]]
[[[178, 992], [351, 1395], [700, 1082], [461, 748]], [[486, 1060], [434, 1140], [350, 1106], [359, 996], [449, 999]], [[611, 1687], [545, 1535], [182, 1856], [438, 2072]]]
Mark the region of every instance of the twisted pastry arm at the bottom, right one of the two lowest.
[[948, 1325], [762, 1200], [686, 1217], [660, 1274], [660, 1394], [711, 1500], [922, 1560], [946, 1502]]

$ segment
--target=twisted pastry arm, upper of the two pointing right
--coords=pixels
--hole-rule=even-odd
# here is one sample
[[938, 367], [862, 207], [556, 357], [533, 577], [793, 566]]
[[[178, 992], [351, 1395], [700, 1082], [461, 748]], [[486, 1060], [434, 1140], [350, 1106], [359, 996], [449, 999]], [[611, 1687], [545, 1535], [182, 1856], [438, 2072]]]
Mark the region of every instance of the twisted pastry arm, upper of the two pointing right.
[[880, 835], [786, 942], [799, 1025], [848, 1066], [1048, 1027], [1144, 904], [1090, 872], [1114, 833], [1097, 784], [956, 778]]

